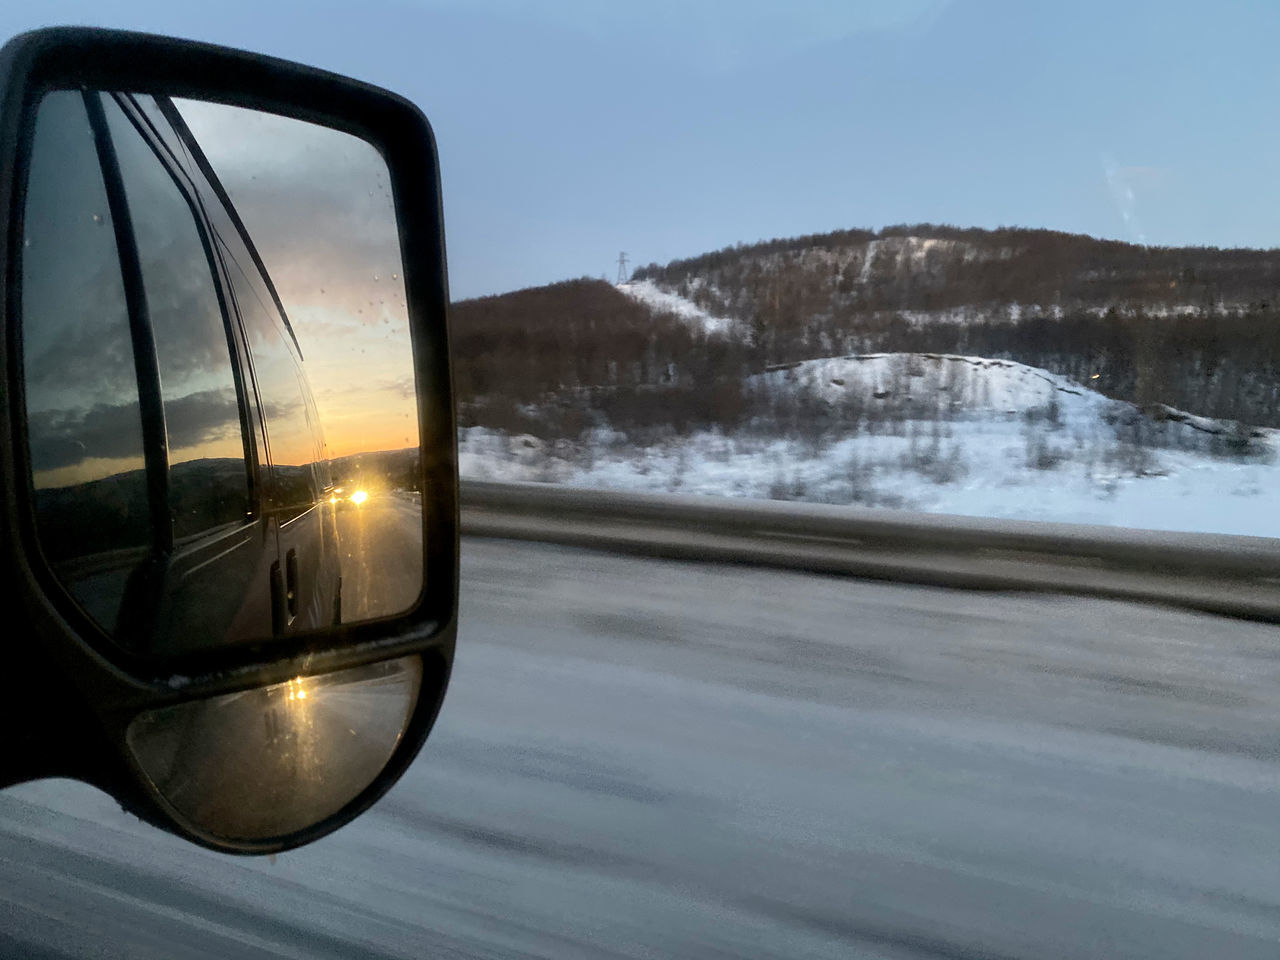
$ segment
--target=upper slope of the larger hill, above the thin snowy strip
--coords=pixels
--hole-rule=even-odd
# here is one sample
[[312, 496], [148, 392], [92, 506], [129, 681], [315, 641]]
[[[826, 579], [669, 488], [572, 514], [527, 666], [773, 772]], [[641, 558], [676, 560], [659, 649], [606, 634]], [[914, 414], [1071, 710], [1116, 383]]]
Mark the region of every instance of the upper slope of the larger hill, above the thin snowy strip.
[[1276, 251], [1147, 247], [1082, 234], [936, 224], [773, 239], [666, 266], [635, 280], [695, 293], [713, 312], [767, 319], [1037, 305], [1155, 312], [1275, 301]]

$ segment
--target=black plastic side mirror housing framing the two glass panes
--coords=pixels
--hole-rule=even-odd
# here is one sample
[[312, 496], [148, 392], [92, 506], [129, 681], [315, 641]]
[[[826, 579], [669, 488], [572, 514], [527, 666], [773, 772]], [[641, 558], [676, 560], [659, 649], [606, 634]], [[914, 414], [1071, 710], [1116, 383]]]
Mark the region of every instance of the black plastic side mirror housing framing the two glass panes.
[[[35, 116], [41, 99], [59, 90], [125, 91], [247, 108], [352, 134], [385, 160], [417, 384], [420, 456], [413, 483], [421, 498], [424, 588], [412, 609], [157, 658], [113, 643], [54, 576], [36, 530], [18, 317]], [[83, 780], [141, 818], [228, 852], [274, 852], [337, 829], [378, 800], [416, 756], [440, 709], [453, 662], [457, 442], [439, 163], [426, 118], [384, 90], [268, 56], [141, 33], [41, 29], [0, 50], [0, 303], [5, 311], [0, 571], [9, 596], [0, 678], [0, 735], [9, 746], [0, 754], [0, 785], [54, 776]], [[289, 562], [294, 562], [292, 556]], [[421, 686], [385, 764], [340, 809], [284, 833], [229, 836], [210, 829], [156, 787], [127, 742], [131, 724], [142, 716], [180, 713], [188, 704], [268, 689], [288, 690], [292, 699], [297, 694], [289, 685], [300, 678], [343, 671], [366, 676], [379, 664], [406, 658], [420, 663]]]

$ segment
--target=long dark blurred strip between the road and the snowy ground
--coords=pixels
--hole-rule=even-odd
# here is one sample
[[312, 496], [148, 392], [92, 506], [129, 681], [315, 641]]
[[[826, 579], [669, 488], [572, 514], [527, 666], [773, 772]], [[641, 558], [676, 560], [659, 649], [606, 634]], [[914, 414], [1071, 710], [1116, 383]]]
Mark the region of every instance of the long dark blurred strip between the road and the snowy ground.
[[929, 586], [1146, 600], [1280, 622], [1280, 540], [462, 481], [465, 536]]

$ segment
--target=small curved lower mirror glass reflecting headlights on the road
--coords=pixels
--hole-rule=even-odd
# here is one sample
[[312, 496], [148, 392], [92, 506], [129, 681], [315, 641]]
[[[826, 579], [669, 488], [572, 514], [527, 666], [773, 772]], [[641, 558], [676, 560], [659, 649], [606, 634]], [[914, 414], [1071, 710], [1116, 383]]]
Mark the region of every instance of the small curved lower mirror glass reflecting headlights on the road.
[[417, 657], [142, 713], [125, 735], [160, 795], [206, 833], [265, 840], [332, 817], [383, 771], [417, 703]]

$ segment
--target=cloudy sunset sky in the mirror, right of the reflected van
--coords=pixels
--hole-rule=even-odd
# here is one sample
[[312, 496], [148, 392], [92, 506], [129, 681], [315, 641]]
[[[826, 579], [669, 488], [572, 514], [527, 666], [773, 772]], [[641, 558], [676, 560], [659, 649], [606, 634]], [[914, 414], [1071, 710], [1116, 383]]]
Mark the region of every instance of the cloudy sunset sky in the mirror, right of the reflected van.
[[412, 348], [385, 161], [365, 141], [316, 124], [175, 102], [280, 294], [330, 456], [415, 445]]

